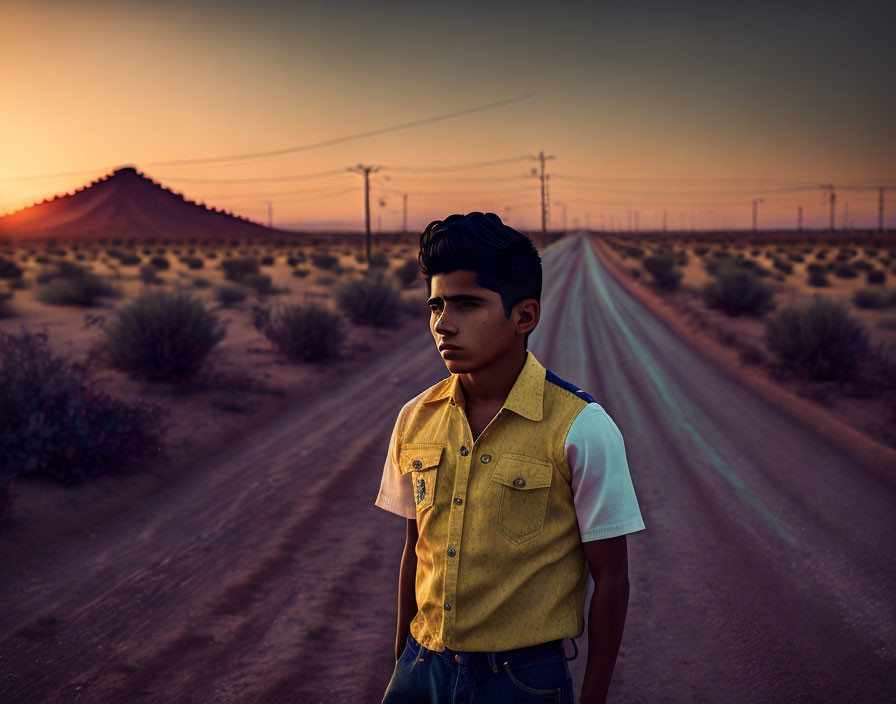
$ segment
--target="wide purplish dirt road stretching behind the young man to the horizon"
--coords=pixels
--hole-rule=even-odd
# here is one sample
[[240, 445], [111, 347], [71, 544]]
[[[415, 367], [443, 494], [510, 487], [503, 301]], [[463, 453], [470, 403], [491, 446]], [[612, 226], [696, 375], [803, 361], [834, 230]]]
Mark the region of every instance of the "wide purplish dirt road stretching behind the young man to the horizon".
[[[891, 700], [896, 490], [708, 368], [585, 238], [543, 257], [530, 345], [622, 430], [647, 525], [611, 701]], [[373, 500], [396, 413], [445, 376], [423, 329], [94, 536], [0, 555], [0, 701], [378, 702], [404, 521]]]

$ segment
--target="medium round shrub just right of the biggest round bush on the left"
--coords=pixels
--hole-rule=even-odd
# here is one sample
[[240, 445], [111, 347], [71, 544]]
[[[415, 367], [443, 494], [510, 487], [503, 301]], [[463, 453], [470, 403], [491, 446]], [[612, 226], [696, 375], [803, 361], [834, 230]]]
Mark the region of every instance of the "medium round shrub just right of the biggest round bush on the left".
[[303, 362], [339, 359], [345, 338], [339, 315], [313, 302], [276, 305], [262, 332], [289, 358]]

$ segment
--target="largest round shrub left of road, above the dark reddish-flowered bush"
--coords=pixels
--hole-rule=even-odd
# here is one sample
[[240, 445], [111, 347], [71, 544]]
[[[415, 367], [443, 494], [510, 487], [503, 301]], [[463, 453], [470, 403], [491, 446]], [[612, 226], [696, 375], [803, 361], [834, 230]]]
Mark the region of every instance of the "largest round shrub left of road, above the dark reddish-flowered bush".
[[198, 374], [224, 339], [217, 316], [186, 291], [149, 290], [122, 306], [102, 327], [101, 347], [113, 367], [150, 381]]

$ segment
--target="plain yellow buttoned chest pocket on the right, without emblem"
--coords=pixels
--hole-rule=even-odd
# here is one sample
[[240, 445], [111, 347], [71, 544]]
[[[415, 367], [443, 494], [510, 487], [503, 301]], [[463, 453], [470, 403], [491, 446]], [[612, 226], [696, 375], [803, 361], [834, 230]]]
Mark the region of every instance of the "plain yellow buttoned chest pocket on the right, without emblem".
[[497, 529], [514, 545], [544, 530], [553, 465], [525, 455], [503, 454], [495, 463], [492, 481], [500, 489]]

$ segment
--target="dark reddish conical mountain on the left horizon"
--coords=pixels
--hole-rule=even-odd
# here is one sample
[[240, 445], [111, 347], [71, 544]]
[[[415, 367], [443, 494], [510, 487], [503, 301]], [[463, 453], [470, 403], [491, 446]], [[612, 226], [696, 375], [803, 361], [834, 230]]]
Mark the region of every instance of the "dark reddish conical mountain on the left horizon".
[[116, 169], [73, 193], [0, 217], [0, 237], [95, 239], [266, 237], [295, 234], [200, 205], [133, 166]]

